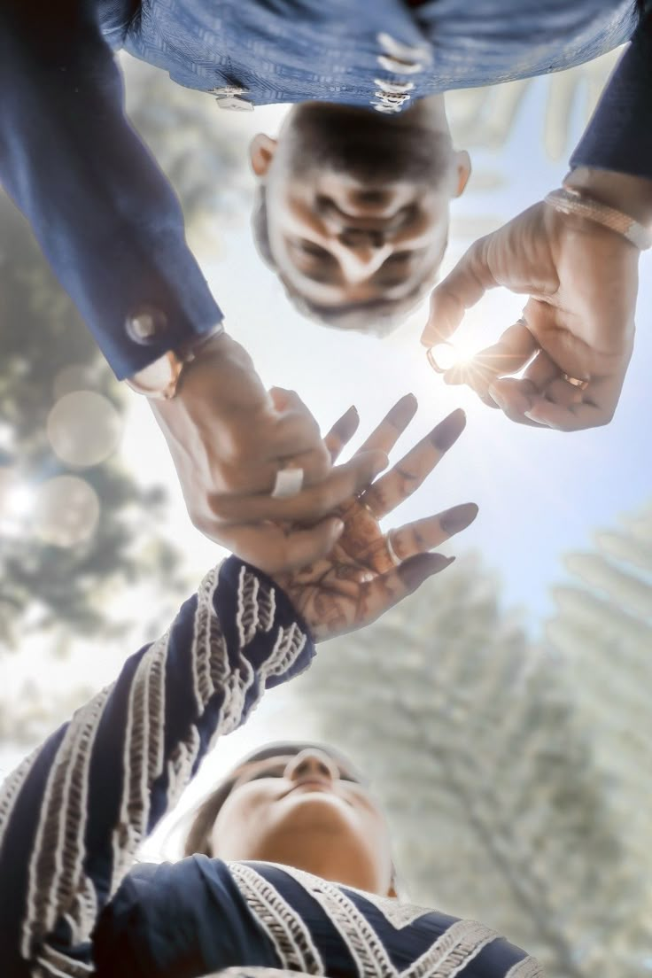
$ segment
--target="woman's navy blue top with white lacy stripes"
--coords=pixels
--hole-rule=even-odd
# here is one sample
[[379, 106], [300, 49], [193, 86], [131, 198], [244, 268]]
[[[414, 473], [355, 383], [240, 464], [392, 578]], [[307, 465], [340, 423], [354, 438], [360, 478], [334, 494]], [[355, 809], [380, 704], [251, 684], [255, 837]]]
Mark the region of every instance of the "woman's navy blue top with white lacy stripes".
[[206, 751], [314, 646], [264, 574], [230, 557], [169, 631], [0, 789], [3, 978], [197, 978], [268, 965], [330, 978], [539, 978], [491, 928], [289, 867], [139, 844]]

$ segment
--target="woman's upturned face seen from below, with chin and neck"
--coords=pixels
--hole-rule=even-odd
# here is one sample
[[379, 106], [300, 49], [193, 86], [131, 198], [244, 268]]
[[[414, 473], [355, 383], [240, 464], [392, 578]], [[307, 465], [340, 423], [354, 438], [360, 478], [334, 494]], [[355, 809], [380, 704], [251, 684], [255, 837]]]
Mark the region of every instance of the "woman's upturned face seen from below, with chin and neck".
[[308, 747], [243, 765], [213, 825], [224, 860], [260, 860], [387, 894], [392, 858], [386, 822], [343, 761]]

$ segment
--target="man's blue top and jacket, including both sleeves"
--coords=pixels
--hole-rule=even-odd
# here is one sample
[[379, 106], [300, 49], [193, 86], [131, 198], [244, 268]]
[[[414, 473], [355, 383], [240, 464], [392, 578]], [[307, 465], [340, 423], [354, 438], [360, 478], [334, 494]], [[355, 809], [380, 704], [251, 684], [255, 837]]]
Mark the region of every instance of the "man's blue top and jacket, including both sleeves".
[[[652, 178], [652, 0], [3, 0], [0, 181], [118, 378], [208, 332], [222, 313], [181, 209], [125, 119], [112, 50], [254, 105], [370, 107], [376, 79], [411, 98], [542, 74], [634, 37], [572, 163]], [[398, 48], [397, 48], [398, 44]], [[410, 105], [407, 102], [406, 105]], [[217, 115], [217, 113], [216, 113]], [[216, 117], [216, 124], [219, 119]], [[164, 328], [126, 328], [144, 306]]]

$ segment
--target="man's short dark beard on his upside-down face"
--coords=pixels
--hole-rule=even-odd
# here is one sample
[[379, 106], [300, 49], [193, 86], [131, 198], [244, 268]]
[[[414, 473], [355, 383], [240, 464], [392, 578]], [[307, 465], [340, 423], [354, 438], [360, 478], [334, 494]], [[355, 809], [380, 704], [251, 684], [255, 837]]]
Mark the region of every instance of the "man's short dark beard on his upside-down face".
[[329, 103], [305, 103], [288, 120], [292, 172], [345, 173], [363, 184], [401, 181], [436, 187], [450, 170], [448, 132], [411, 111], [392, 116]]

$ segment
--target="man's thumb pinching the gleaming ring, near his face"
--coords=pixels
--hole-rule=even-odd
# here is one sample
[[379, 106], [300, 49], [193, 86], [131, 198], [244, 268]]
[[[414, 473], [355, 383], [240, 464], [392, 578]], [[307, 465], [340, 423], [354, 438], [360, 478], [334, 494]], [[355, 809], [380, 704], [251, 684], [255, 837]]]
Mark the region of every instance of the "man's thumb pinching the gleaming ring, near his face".
[[491, 239], [492, 235], [488, 235], [471, 244], [453, 271], [434, 289], [428, 322], [421, 335], [424, 346], [448, 339], [456, 332], [466, 310], [479, 302], [487, 289], [498, 285], [488, 264]]

